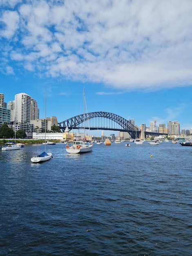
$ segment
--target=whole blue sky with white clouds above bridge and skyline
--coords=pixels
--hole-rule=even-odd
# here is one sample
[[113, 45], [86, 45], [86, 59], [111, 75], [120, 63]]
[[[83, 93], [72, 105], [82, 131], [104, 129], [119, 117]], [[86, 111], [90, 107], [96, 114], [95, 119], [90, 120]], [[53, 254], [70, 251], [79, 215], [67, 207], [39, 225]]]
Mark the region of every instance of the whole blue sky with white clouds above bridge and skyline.
[[[192, 128], [191, 0], [0, 0], [0, 93], [40, 118], [105, 111]], [[100, 134], [100, 131], [99, 131]]]

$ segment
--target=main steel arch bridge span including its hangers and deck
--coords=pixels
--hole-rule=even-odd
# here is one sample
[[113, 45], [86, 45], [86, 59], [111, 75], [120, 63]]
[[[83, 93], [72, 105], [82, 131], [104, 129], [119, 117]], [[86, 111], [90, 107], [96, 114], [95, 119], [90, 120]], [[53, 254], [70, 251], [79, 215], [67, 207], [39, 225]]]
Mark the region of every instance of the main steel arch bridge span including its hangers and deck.
[[140, 135], [136, 126], [127, 121], [125, 118], [109, 112], [91, 112], [71, 117], [63, 122], [58, 123], [59, 128], [65, 132], [68, 127], [72, 129], [89, 129], [90, 130], [117, 130], [128, 132], [135, 139]]

